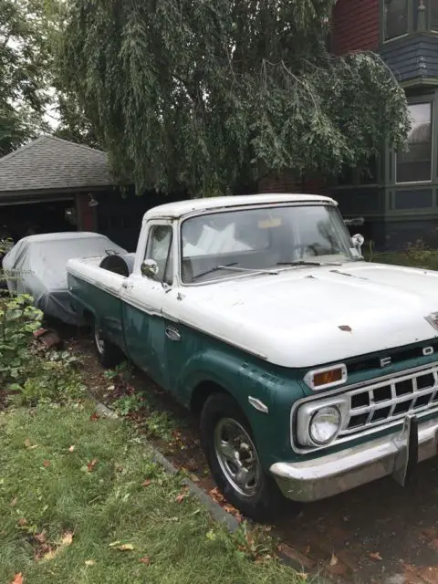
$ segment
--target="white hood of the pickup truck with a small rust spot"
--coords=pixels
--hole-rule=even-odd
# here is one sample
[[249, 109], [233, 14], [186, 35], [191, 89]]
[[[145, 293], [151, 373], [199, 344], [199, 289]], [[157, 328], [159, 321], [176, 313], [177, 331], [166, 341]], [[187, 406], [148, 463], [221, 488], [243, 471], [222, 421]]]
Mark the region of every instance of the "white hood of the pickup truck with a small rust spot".
[[[351, 262], [181, 288], [182, 322], [289, 368], [435, 339], [438, 272]], [[201, 325], [201, 326], [200, 326]]]

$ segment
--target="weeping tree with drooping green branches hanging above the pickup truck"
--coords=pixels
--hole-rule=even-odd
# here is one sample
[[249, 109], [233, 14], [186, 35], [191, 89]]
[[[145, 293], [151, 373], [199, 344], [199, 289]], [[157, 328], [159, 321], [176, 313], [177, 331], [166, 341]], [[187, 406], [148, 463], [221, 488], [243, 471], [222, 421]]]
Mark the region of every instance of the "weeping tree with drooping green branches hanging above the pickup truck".
[[224, 193], [403, 148], [404, 92], [371, 53], [328, 53], [335, 0], [71, 0], [61, 55], [114, 172]]

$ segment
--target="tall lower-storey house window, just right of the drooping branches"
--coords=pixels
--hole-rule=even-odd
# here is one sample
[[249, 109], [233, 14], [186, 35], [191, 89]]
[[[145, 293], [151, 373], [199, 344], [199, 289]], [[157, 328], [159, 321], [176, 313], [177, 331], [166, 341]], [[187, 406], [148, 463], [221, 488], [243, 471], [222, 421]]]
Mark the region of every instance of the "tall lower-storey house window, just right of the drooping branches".
[[412, 128], [409, 151], [397, 154], [396, 183], [419, 183], [432, 179], [432, 103], [409, 106]]

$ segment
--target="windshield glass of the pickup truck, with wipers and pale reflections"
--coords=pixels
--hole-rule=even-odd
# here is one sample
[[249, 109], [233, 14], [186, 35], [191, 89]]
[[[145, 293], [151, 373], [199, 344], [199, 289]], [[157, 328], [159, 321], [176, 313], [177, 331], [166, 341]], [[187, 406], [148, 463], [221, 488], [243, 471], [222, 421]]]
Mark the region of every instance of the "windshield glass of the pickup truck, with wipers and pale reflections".
[[185, 284], [247, 270], [276, 270], [357, 259], [335, 207], [290, 205], [203, 214], [182, 225]]

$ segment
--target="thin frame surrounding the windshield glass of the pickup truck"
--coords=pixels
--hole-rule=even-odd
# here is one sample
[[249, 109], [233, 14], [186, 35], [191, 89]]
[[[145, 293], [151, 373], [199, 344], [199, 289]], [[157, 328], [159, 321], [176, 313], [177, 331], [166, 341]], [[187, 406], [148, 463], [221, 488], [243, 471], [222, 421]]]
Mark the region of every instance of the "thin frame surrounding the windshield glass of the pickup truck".
[[[217, 278], [217, 277], [212, 277], [211, 279], [205, 279], [201, 282], [184, 282], [183, 281], [183, 224], [186, 221], [189, 221], [190, 219], [193, 219], [193, 217], [202, 217], [202, 216], [210, 216], [210, 215], [216, 215], [216, 214], [226, 214], [226, 213], [238, 213], [238, 212], [245, 212], [245, 211], [254, 211], [254, 210], [258, 210], [258, 209], [278, 209], [278, 208], [284, 208], [284, 207], [330, 207], [332, 208], [337, 214], [339, 214], [339, 219], [340, 219], [340, 224], [343, 226], [344, 230], [345, 230], [345, 234], [347, 236], [348, 240], [351, 240], [351, 235], [349, 234], [349, 230], [347, 229], [346, 224], [344, 223], [344, 220], [342, 218], [342, 215], [339, 213], [339, 207], [338, 204], [336, 202], [331, 202], [331, 201], [324, 201], [324, 200], [320, 200], [320, 201], [297, 201], [297, 203], [294, 202], [290, 202], [288, 201], [287, 203], [263, 203], [263, 204], [248, 204], [248, 205], [230, 205], [230, 206], [222, 206], [222, 207], [218, 207], [217, 209], [205, 209], [203, 211], [193, 211], [192, 213], [189, 214], [184, 214], [183, 217], [181, 217], [179, 224], [178, 224], [178, 236], [176, 238], [176, 244], [178, 246], [177, 251], [177, 256], [178, 256], [178, 274], [177, 279], [179, 281], [180, 286], [182, 287], [199, 287], [199, 286], [207, 286], [210, 284], [220, 284], [222, 282], [229, 282], [229, 281], [233, 281], [236, 279], [243, 279], [243, 278], [247, 278], [248, 276], [257, 276], [257, 275], [261, 275], [261, 274], [266, 274], [266, 269], [263, 270], [256, 270], [254, 269], [254, 271], [251, 272], [247, 272], [247, 273], [238, 273], [238, 272], [234, 272], [233, 274], [230, 274], [230, 276], [224, 276], [221, 278]], [[351, 247], [353, 247], [352, 243], [351, 243]], [[360, 256], [355, 257], [351, 252], [350, 252], [351, 248], [347, 248], [346, 252], [349, 255], [348, 259], [345, 259], [342, 264], [346, 264], [349, 262], [358, 262], [360, 261], [362, 258]], [[330, 265], [330, 263], [327, 263], [328, 266]], [[324, 266], [324, 262], [321, 263], [322, 266]], [[339, 264], [340, 265], [340, 264]], [[309, 266], [273, 266], [272, 267], [272, 273], [273, 274], [278, 274], [278, 273], [283, 273], [286, 272], [288, 270], [290, 270], [291, 267], [299, 267], [299, 268], [305, 268], [305, 267], [309, 267]]]

